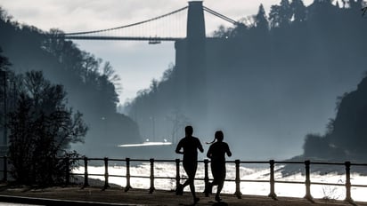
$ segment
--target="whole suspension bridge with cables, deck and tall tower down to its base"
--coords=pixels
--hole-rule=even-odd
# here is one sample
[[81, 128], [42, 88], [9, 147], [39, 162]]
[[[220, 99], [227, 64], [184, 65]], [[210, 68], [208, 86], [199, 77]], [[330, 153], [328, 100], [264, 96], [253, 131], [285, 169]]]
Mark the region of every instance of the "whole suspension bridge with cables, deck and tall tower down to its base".
[[227, 42], [226, 38], [207, 36], [204, 13], [227, 24], [229, 22], [236, 27], [243, 26], [241, 22], [203, 6], [202, 1], [189, 1], [181, 9], [149, 20], [115, 28], [65, 33], [55, 37], [69, 40], [147, 41], [149, 44], [175, 42], [176, 75], [180, 76], [177, 92], [186, 99], [182, 109], [192, 119], [198, 119], [199, 115], [206, 116], [208, 104], [207, 61], [212, 52], [208, 51], [208, 45], [213, 42]]

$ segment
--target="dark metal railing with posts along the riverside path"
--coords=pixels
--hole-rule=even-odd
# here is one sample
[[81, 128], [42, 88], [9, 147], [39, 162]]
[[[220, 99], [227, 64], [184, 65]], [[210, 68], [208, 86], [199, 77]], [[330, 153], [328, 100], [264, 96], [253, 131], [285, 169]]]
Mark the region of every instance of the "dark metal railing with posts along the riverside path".
[[[9, 177], [9, 163], [8, 163], [8, 157], [7, 156], [1, 156], [0, 160], [2, 160], [2, 166], [0, 163], [0, 172], [3, 173], [3, 181], [6, 182], [8, 181], [8, 177]], [[80, 163], [80, 165], [83, 165], [82, 167], [84, 167], [84, 172], [83, 173], [77, 173], [77, 172], [73, 172], [70, 170], [69, 168], [69, 161], [71, 161], [71, 159], [66, 160], [65, 162], [67, 162], [67, 167], [65, 170], [65, 185], [69, 185], [70, 184], [70, 179], [72, 177], [83, 177], [84, 181], [83, 181], [83, 188], [86, 186], [90, 186], [89, 184], [89, 179], [90, 177], [104, 177], [104, 185], [102, 187], [102, 189], [107, 189], [110, 187], [110, 183], [109, 183], [109, 178], [111, 177], [115, 177], [115, 178], [126, 178], [126, 186], [125, 186], [125, 192], [129, 191], [131, 188], [133, 188], [131, 186], [131, 178], [149, 178], [150, 179], [150, 188], [149, 188], [149, 193], [153, 193], [155, 190], [155, 179], [171, 179], [171, 180], [175, 180], [175, 187], [177, 187], [180, 184], [180, 181], [182, 179], [186, 179], [186, 178], [182, 178], [181, 177], [181, 173], [180, 173], [180, 169], [181, 169], [181, 160], [180, 159], [175, 159], [175, 160], [155, 160], [155, 159], [130, 159], [130, 158], [125, 158], [125, 159], [113, 159], [113, 158], [108, 158], [108, 157], [104, 157], [104, 158], [87, 158], [87, 157], [83, 157], [83, 158], [74, 158], [72, 159], [74, 161], [79, 161], [82, 162]], [[103, 167], [104, 167], [104, 172], [102, 173], [90, 173], [88, 171], [88, 165], [89, 162], [102, 162]], [[126, 170], [121, 171], [121, 175], [118, 174], [113, 174], [111, 175], [110, 172], [110, 162], [123, 162], [125, 163], [126, 166]], [[131, 173], [131, 163], [132, 162], [149, 162], [150, 163], [150, 172], [147, 175], [141, 175], [141, 174], [132, 174]], [[155, 174], [155, 162], [170, 162], [170, 163], [175, 163], [175, 176], [172, 177], [162, 177], [159, 176], [157, 174]], [[204, 161], [198, 161], [198, 163], [203, 164], [204, 166], [204, 178], [195, 178], [195, 180], [200, 180], [200, 181], [204, 181], [204, 186], [205, 186], [205, 190], [204, 193], [206, 196], [208, 196], [208, 183], [209, 180], [211, 180], [209, 178], [209, 161], [208, 159], [205, 159]], [[367, 163], [352, 163], [352, 162], [311, 162], [309, 160], [306, 160], [304, 162], [302, 161], [274, 161], [274, 160], [270, 160], [270, 161], [241, 161], [241, 160], [235, 160], [235, 161], [227, 161], [226, 164], [234, 164], [235, 167], [235, 178], [227, 178], [225, 179], [225, 181], [229, 181], [229, 182], [234, 182], [235, 183], [235, 192], [234, 194], [237, 196], [237, 198], [241, 198], [241, 182], [252, 182], [252, 183], [269, 183], [269, 189], [270, 189], [270, 193], [268, 194], [269, 197], [276, 199], [277, 194], [275, 192], [275, 184], [276, 183], [281, 183], [281, 184], [302, 184], [305, 185], [305, 196], [304, 198], [306, 198], [307, 200], [312, 201], [313, 196], [311, 194], [311, 186], [312, 185], [322, 185], [322, 186], [344, 186], [345, 187], [345, 191], [346, 191], [346, 197], [345, 197], [345, 201], [347, 202], [353, 202], [352, 199], [352, 194], [351, 194], [351, 187], [355, 186], [355, 187], [367, 187], [367, 185], [356, 185], [356, 184], [351, 184], [351, 167], [367, 167]], [[269, 168], [269, 179], [243, 179], [241, 178], [241, 164], [265, 164], [268, 165]], [[286, 180], [277, 180], [275, 179], [275, 165], [279, 164], [279, 165], [290, 165], [290, 164], [296, 164], [296, 165], [303, 165], [304, 170], [302, 170], [301, 172], [303, 172], [305, 174], [305, 180], [304, 181], [286, 181]], [[345, 174], [345, 183], [327, 183], [327, 182], [316, 182], [316, 181], [311, 181], [311, 166], [315, 166], [315, 165], [322, 165], [324, 167], [330, 167], [330, 166], [341, 166], [344, 167], [344, 174]], [[122, 169], [121, 169], [122, 170]]]

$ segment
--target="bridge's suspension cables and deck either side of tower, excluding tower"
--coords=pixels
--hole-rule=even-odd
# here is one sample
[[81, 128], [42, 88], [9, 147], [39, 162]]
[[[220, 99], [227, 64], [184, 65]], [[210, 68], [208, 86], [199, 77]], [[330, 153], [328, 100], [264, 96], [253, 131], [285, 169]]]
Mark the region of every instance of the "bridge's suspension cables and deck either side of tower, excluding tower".
[[[185, 6], [181, 9], [168, 12], [149, 20], [143, 20], [120, 27], [65, 33], [60, 36], [52, 37], [75, 40], [149, 41], [149, 44], [159, 44], [160, 41], [177, 41], [186, 37], [187, 14], [183, 11], [188, 8], [189, 6]], [[202, 6], [202, 9], [203, 11], [235, 26], [241, 25], [241, 22], [232, 20], [231, 18], [211, 10], [206, 6]]]

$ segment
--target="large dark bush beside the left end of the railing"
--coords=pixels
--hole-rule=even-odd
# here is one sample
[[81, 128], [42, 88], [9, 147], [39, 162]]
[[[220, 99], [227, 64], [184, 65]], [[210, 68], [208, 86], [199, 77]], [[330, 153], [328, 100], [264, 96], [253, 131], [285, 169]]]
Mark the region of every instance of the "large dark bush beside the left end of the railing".
[[[9, 160], [20, 184], [60, 184], [66, 175], [62, 157], [77, 157], [69, 144], [83, 142], [87, 127], [66, 105], [66, 91], [42, 72], [18, 75], [18, 95], [9, 114]], [[70, 169], [72, 168], [72, 164]]]

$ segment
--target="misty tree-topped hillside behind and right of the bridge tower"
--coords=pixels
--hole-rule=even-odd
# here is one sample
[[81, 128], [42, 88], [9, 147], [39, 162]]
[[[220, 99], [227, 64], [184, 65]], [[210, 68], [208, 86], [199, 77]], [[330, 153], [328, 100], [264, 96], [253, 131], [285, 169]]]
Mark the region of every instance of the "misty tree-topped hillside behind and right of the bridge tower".
[[[306, 134], [326, 130], [337, 97], [355, 90], [366, 70], [363, 1], [332, 2], [315, 0], [306, 6], [301, 0], [281, 0], [268, 14], [260, 5], [256, 15], [244, 18], [245, 24], [218, 28], [214, 36], [219, 40], [206, 42], [207, 73], [201, 76], [206, 99], [193, 97], [206, 107], [195, 111], [195, 118], [188, 115], [194, 108], [184, 105], [188, 96], [182, 91], [190, 77], [182, 75], [186, 67], [179, 64], [126, 105], [129, 116], [143, 137], [175, 140], [186, 123], [195, 123], [205, 139], [223, 129], [233, 154], [242, 157], [302, 153]], [[351, 148], [365, 145], [361, 141], [367, 143], [348, 133], [328, 144], [343, 150], [338, 158], [344, 158]]]

